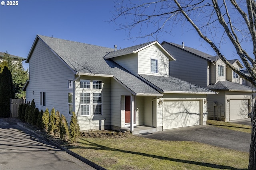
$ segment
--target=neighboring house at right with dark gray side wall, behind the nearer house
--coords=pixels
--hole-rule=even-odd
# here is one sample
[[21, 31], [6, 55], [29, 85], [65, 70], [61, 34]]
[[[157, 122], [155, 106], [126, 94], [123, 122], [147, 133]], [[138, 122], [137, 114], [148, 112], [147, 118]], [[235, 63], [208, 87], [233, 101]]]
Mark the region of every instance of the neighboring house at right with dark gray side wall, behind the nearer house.
[[[252, 110], [254, 90], [242, 85], [242, 78], [219, 57], [208, 55], [184, 45], [162, 42], [175, 58], [170, 62], [170, 75], [218, 92], [208, 95], [208, 119], [231, 121], [248, 118]], [[237, 69], [243, 68], [238, 59], [229, 60]]]

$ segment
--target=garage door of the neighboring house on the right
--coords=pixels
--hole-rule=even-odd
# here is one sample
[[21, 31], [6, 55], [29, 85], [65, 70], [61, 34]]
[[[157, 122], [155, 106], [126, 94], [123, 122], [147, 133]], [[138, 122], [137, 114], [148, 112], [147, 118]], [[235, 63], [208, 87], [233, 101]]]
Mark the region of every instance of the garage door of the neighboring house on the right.
[[245, 119], [248, 118], [249, 113], [249, 100], [231, 100], [229, 102], [229, 120]]

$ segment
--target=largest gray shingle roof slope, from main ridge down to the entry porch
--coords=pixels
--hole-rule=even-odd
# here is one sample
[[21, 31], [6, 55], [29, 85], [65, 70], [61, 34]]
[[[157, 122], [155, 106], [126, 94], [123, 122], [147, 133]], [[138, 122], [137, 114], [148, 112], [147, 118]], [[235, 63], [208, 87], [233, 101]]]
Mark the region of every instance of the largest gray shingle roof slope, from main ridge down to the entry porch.
[[42, 35], [38, 35], [38, 37], [75, 72], [113, 75], [136, 94], [160, 94], [122, 66], [103, 58], [113, 49]]

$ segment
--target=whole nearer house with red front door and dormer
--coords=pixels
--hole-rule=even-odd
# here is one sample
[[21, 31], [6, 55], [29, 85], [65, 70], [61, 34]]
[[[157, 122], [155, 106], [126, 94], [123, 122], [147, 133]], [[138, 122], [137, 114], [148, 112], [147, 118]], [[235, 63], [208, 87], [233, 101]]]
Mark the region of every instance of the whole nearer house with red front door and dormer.
[[68, 122], [74, 111], [81, 130], [205, 125], [215, 92], [169, 76], [173, 60], [157, 41], [116, 50], [37, 35], [26, 100]]

